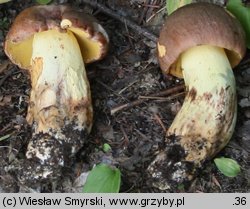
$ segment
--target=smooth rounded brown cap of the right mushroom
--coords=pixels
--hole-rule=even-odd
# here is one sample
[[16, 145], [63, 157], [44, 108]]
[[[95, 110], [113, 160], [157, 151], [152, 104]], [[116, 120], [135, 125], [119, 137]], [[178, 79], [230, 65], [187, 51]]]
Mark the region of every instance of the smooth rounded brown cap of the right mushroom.
[[178, 58], [198, 45], [224, 48], [232, 67], [246, 51], [245, 32], [224, 8], [209, 3], [181, 7], [166, 20], [158, 40], [158, 59], [164, 73], [182, 78]]

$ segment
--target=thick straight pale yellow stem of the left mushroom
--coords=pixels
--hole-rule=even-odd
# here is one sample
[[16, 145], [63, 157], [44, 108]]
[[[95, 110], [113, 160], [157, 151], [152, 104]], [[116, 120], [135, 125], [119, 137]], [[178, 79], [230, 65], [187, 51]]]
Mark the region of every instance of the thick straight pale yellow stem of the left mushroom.
[[[79, 140], [83, 141], [84, 134], [90, 131], [90, 88], [81, 51], [71, 31], [55, 29], [37, 33], [32, 47], [27, 120], [32, 124], [35, 139], [29, 143], [26, 155], [49, 164], [46, 161], [53, 161], [52, 155], [57, 154], [51, 153], [56, 148], [52, 148], [51, 142], [48, 145], [48, 141], [56, 139], [58, 144], [71, 144], [66, 148], [69, 153], [60, 151], [60, 155], [71, 155], [80, 148]], [[60, 157], [59, 163], [63, 164]]]

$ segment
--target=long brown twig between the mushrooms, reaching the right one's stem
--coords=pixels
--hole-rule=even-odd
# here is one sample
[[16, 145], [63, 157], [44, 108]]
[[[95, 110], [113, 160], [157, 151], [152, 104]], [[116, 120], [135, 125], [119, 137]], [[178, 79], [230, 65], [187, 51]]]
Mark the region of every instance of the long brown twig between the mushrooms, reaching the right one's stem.
[[[179, 85], [179, 86], [175, 86], [175, 87], [172, 87], [170, 89], [166, 89], [164, 91], [161, 91], [161, 92], [158, 92], [158, 93], [155, 93], [155, 94], [148, 95], [148, 97], [167, 96], [167, 95], [179, 92], [181, 90], [184, 90], [184, 88], [185, 88], [185, 85]], [[141, 103], [143, 103], [143, 102], [145, 102], [147, 100], [148, 100], [148, 98], [137, 99], [135, 101], [132, 101], [132, 102], [129, 102], [129, 103], [114, 107], [114, 108], [111, 109], [110, 113], [111, 113], [111, 115], [113, 115], [118, 111], [121, 111], [123, 109], [128, 109], [128, 108], [131, 108], [133, 106], [137, 106], [137, 105], [139, 105], [139, 104], [141, 104]]]

